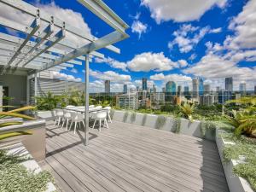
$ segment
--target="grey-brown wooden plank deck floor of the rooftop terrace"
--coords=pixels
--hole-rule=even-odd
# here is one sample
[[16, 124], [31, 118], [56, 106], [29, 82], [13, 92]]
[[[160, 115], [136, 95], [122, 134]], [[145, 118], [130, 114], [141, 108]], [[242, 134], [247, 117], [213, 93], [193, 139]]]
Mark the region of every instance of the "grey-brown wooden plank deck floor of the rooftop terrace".
[[229, 191], [215, 143], [121, 122], [81, 134], [48, 122], [41, 166], [62, 191]]

